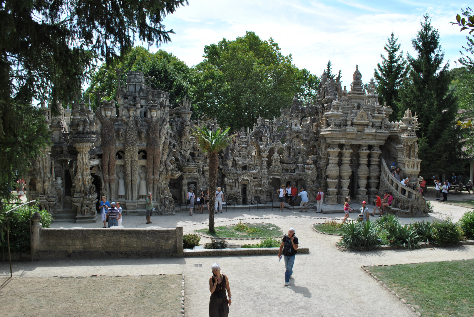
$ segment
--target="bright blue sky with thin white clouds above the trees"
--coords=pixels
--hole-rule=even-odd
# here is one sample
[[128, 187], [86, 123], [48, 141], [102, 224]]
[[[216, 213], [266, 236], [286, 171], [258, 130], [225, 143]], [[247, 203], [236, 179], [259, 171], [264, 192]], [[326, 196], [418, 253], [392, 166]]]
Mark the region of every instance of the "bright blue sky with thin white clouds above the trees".
[[261, 39], [272, 37], [284, 55], [292, 54], [298, 68], [320, 75], [330, 60], [333, 72], [342, 70], [342, 80], [349, 84], [357, 64], [367, 82], [392, 31], [403, 52], [415, 55], [411, 39], [425, 13], [440, 33], [445, 61], [456, 67], [468, 32], [449, 22], [468, 5], [446, 0], [189, 0], [189, 6], [164, 19], [166, 29], [176, 34], [160, 49], [193, 66], [204, 60], [205, 45], [254, 31]]

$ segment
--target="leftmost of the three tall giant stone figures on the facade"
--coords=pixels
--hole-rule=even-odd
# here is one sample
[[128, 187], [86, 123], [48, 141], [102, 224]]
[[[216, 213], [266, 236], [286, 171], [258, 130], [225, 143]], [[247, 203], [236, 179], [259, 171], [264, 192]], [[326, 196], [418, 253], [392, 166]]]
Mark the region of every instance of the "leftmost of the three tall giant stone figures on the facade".
[[[113, 103], [115, 105], [115, 102]], [[105, 116], [102, 115], [104, 110]], [[104, 100], [102, 106], [97, 108], [96, 117], [102, 124], [101, 139], [102, 139], [102, 174], [103, 181], [106, 188], [106, 196], [113, 199], [113, 193], [115, 192], [115, 130], [114, 123], [119, 119], [112, 116], [112, 111], [115, 112], [115, 106], [112, 106], [110, 102]]]

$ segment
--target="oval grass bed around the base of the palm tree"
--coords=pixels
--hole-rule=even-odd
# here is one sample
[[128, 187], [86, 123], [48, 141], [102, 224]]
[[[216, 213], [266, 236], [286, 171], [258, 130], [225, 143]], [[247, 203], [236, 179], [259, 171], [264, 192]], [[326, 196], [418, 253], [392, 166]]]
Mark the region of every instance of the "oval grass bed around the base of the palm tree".
[[271, 238], [283, 235], [283, 230], [273, 223], [237, 223], [236, 225], [214, 227], [215, 232], [209, 229], [199, 229], [200, 232], [214, 238]]

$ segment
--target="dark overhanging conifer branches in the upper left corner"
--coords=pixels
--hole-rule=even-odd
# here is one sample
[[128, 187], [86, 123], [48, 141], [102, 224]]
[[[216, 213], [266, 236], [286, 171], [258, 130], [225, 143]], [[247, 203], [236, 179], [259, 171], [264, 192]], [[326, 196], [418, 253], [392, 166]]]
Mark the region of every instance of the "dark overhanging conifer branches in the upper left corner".
[[[162, 24], [186, 0], [2, 0], [0, 5], [0, 198], [48, 140], [36, 100], [76, 98], [96, 63], [170, 41]], [[53, 114], [57, 114], [52, 107]]]

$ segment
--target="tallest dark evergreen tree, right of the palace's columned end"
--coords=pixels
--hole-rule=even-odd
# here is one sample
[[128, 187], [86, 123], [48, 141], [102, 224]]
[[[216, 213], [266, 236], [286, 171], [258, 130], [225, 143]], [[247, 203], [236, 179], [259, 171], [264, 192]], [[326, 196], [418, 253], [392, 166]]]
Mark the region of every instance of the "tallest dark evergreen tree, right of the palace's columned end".
[[418, 56], [408, 55], [410, 80], [400, 92], [399, 114], [403, 116], [410, 108], [418, 115], [421, 175], [457, 172], [463, 166], [459, 130], [455, 128], [457, 101], [449, 91], [449, 64], [442, 65], [444, 52], [439, 44], [439, 32], [431, 25], [428, 15], [411, 42]]

